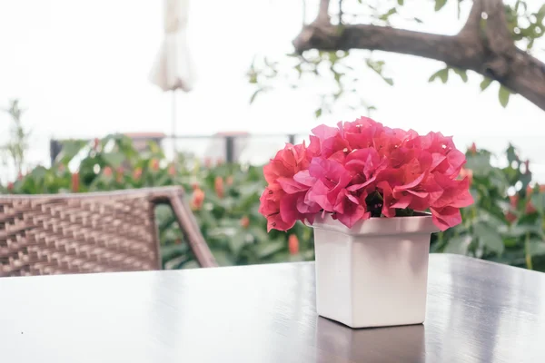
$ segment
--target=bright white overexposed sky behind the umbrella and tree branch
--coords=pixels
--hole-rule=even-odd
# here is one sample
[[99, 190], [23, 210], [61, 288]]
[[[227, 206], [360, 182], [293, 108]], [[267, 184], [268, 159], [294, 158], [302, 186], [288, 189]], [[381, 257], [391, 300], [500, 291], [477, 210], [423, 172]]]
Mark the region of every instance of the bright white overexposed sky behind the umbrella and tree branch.
[[[310, 19], [316, 1], [308, 3]], [[407, 7], [407, 14], [426, 22], [422, 30], [455, 34], [460, 28], [453, 1], [437, 15], [429, 2], [409, 3], [416, 7]], [[47, 160], [52, 136], [170, 131], [171, 95], [148, 82], [163, 36], [162, 11], [157, 0], [0, 1], [0, 106], [17, 97], [28, 109], [24, 120], [33, 129], [33, 161]], [[279, 87], [249, 105], [253, 86], [245, 73], [253, 55], [291, 52], [301, 22], [300, 1], [193, 0], [188, 36], [198, 79], [193, 92], [178, 97], [177, 130], [308, 132], [316, 123], [363, 114], [337, 110], [316, 121], [310, 82], [299, 91]], [[400, 54], [378, 56], [387, 62], [395, 86], [365, 73], [358, 88], [378, 108], [373, 115], [377, 121], [453, 134], [459, 147], [475, 141], [499, 152], [511, 140], [532, 162], [545, 164], [540, 142], [545, 113], [530, 102], [511, 96], [503, 109], [498, 86], [481, 93], [476, 74], [470, 74], [467, 84], [459, 79], [448, 85], [428, 83], [440, 63]], [[0, 114], [4, 135], [8, 121]], [[540, 168], [540, 179], [545, 179]]]

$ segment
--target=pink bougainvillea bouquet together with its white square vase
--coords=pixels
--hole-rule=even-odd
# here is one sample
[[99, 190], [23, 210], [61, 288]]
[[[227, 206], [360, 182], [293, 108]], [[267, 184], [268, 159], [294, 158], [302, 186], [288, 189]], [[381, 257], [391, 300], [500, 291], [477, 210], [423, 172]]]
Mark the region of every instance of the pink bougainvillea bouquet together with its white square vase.
[[[423, 322], [430, 234], [473, 202], [465, 155], [440, 132], [419, 135], [362, 117], [312, 130], [267, 164], [268, 230], [311, 224], [316, 308], [352, 328]], [[428, 212], [429, 211], [429, 212]]]

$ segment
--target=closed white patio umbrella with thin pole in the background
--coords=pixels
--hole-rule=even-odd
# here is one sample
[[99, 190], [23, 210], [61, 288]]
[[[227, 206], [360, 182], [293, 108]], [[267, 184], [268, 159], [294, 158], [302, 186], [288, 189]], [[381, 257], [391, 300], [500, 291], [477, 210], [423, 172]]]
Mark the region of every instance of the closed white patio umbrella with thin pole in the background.
[[[176, 91], [189, 92], [195, 81], [194, 66], [187, 45], [189, 0], [163, 0], [164, 39], [150, 73], [150, 81], [164, 92], [173, 93], [173, 136], [176, 134]], [[175, 145], [173, 139], [173, 145]], [[176, 153], [173, 148], [174, 157]]]

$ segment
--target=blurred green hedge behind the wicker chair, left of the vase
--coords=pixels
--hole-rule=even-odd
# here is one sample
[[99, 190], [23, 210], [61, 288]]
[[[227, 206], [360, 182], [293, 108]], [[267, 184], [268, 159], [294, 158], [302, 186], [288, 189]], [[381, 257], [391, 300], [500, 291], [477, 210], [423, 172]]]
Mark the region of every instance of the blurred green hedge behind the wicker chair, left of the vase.
[[[37, 167], [21, 180], [3, 187], [9, 193], [57, 193], [114, 191], [166, 185], [181, 185], [192, 203], [204, 239], [220, 265], [313, 260], [312, 229], [297, 224], [289, 233], [267, 233], [266, 220], [258, 212], [265, 187], [263, 170], [240, 164], [203, 165], [180, 155], [169, 164], [155, 144], [138, 153], [131, 140], [110, 135], [91, 143], [71, 141], [51, 168]], [[72, 162], [71, 162], [72, 161]], [[69, 165], [79, 164], [77, 172]], [[195, 205], [197, 191], [204, 193]], [[167, 206], [156, 210], [165, 269], [196, 266], [183, 234]], [[288, 249], [288, 238], [296, 235], [297, 250]]]

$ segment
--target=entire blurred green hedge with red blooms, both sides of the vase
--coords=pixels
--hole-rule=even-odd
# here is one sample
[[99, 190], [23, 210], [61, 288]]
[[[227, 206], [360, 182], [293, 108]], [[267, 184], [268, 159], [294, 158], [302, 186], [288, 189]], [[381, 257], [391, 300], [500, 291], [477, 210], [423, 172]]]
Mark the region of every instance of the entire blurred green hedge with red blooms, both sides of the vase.
[[[74, 145], [80, 145], [79, 151]], [[203, 165], [183, 155], [173, 165], [166, 162], [157, 145], [151, 144], [148, 152], [138, 153], [129, 139], [119, 135], [92, 144], [69, 142], [66, 146], [51, 168], [37, 167], [3, 188], [3, 192], [113, 191], [182, 185], [204, 239], [221, 265], [313, 259], [312, 229], [302, 223], [289, 233], [267, 233], [266, 221], [258, 211], [266, 184], [261, 167]], [[494, 166], [492, 155], [484, 150], [471, 149], [466, 156], [464, 173], [471, 178], [475, 203], [461, 210], [460, 225], [433, 236], [431, 251], [545, 270], [545, 188], [531, 184], [529, 162], [520, 160], [513, 146], [504, 155], [505, 167]], [[79, 160], [78, 172], [69, 171], [71, 160]], [[156, 216], [163, 267], [196, 266], [170, 208], [158, 208]], [[292, 251], [290, 235], [298, 240]]]

